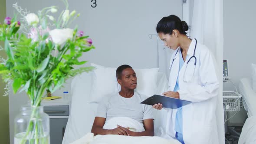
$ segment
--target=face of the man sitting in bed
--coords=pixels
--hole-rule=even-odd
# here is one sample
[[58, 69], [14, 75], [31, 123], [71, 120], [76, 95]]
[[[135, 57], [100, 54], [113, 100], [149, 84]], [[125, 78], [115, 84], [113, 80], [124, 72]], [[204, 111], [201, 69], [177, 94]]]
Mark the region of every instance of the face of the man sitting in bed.
[[121, 80], [118, 80], [118, 83], [124, 88], [135, 89], [137, 87], [137, 77], [135, 71], [132, 68], [124, 69]]

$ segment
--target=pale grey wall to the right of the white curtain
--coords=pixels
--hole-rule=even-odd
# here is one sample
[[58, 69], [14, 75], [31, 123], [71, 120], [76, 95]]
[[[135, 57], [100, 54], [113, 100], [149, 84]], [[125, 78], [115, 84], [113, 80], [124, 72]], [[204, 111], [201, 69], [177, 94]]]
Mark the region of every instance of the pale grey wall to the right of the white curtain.
[[[255, 6], [255, 0], [223, 0], [223, 56], [228, 59], [230, 78], [236, 86], [241, 78], [250, 77], [250, 63], [256, 63]], [[223, 90], [235, 88], [230, 83], [224, 83]], [[246, 111], [241, 109], [230, 122], [236, 125], [244, 122], [245, 118]]]

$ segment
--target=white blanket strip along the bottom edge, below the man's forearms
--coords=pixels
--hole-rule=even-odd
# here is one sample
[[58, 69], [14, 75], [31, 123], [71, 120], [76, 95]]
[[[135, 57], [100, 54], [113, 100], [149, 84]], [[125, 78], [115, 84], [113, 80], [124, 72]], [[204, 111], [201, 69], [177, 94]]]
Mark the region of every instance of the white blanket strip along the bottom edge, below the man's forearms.
[[131, 137], [123, 135], [96, 135], [92, 133], [85, 134], [84, 137], [78, 139], [72, 144], [181, 144], [174, 139], [164, 139], [162, 137]]

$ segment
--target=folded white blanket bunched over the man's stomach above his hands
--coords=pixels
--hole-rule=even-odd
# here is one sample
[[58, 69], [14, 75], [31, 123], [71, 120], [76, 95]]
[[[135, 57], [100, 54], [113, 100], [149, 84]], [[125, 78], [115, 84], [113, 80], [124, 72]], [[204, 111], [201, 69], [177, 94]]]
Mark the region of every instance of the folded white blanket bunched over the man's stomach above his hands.
[[129, 128], [130, 131], [141, 132], [145, 131], [142, 122], [128, 117], [115, 117], [105, 122], [103, 129], [111, 130], [117, 128], [117, 124], [124, 128]]

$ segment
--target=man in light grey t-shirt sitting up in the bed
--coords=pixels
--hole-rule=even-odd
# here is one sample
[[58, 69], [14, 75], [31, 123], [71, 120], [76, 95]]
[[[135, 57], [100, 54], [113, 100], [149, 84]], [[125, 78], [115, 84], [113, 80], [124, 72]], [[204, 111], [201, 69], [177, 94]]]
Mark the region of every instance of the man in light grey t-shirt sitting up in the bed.
[[[94, 135], [118, 134], [128, 136], [154, 136], [154, 118], [152, 108], [140, 104], [146, 99], [135, 92], [137, 77], [135, 71], [129, 65], [121, 65], [116, 70], [118, 83], [121, 91], [102, 99], [98, 105], [98, 111], [92, 125]], [[116, 117], [128, 117], [143, 123], [145, 131], [134, 132], [129, 128], [117, 125], [115, 129], [103, 129], [105, 121]]]

